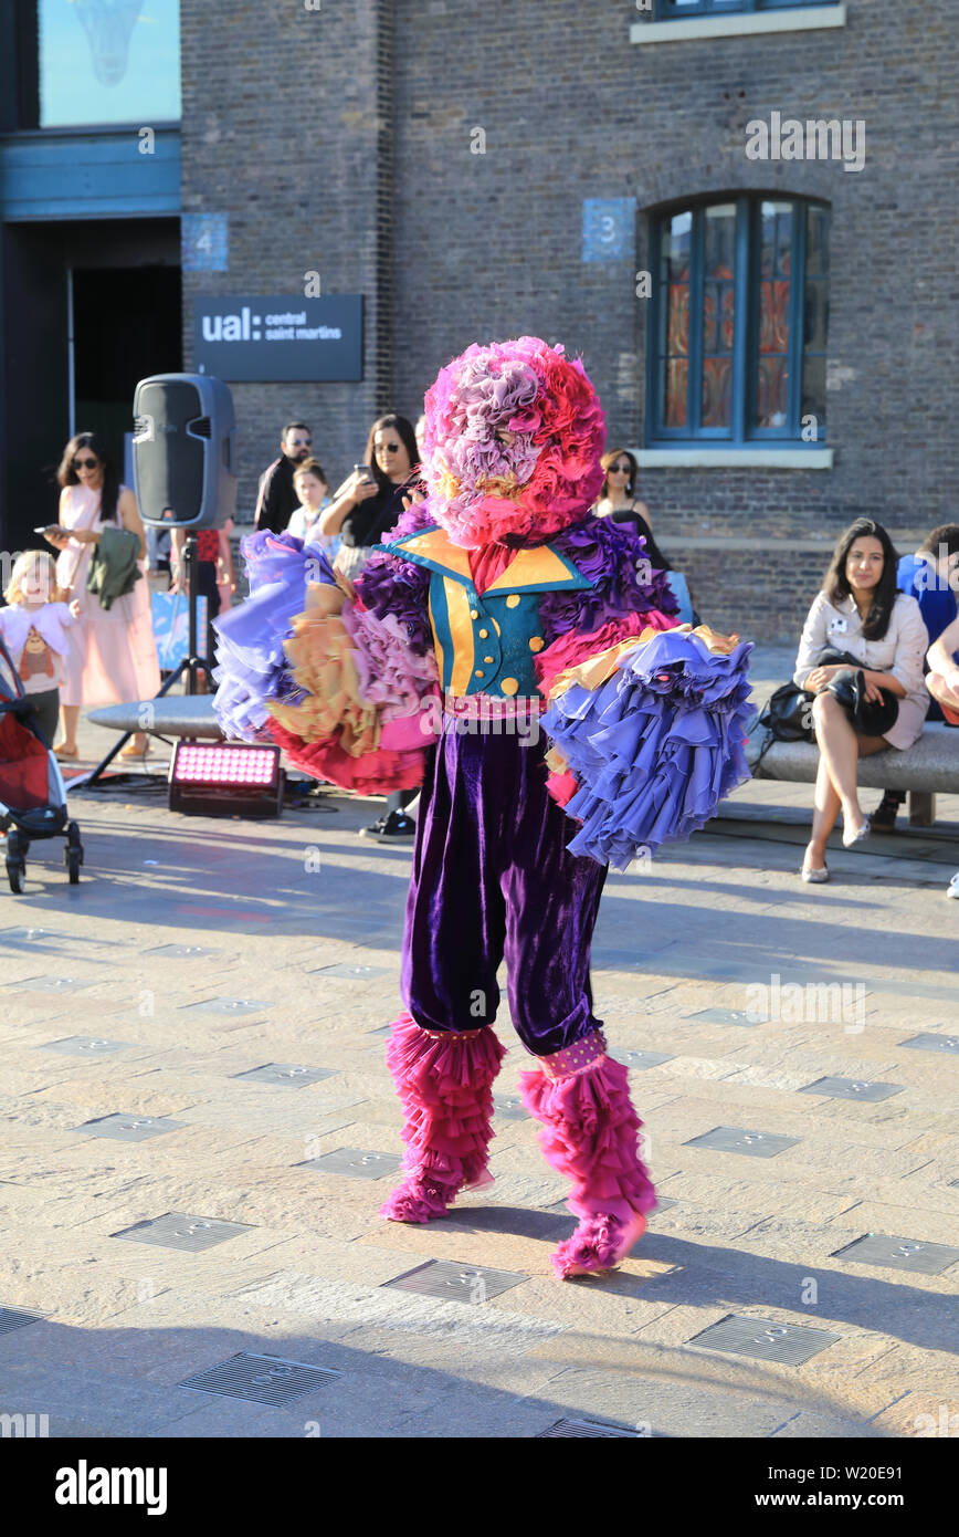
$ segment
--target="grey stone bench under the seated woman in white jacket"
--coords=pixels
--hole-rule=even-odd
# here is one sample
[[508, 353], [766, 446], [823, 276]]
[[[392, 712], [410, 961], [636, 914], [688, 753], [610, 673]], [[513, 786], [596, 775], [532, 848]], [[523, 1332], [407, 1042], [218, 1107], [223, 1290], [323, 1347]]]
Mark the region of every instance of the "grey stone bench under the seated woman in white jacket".
[[[755, 727], [745, 753], [755, 779], [815, 782], [819, 768], [815, 742], [773, 742], [758, 762], [762, 738], [762, 729]], [[905, 752], [887, 747], [871, 758], [861, 758], [856, 784], [867, 790], [907, 790], [910, 822], [913, 827], [931, 827], [936, 821], [936, 792], [959, 795], [959, 729], [930, 721]]]

